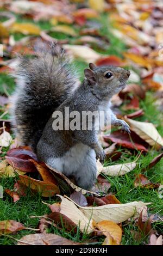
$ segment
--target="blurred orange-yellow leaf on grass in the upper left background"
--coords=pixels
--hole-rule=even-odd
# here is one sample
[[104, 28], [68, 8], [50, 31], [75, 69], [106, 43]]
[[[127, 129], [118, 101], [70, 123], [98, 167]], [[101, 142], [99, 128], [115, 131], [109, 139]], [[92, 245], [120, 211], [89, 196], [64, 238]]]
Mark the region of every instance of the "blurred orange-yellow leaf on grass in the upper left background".
[[11, 27], [14, 33], [22, 33], [24, 35], [40, 35], [40, 28], [33, 23], [14, 23]]

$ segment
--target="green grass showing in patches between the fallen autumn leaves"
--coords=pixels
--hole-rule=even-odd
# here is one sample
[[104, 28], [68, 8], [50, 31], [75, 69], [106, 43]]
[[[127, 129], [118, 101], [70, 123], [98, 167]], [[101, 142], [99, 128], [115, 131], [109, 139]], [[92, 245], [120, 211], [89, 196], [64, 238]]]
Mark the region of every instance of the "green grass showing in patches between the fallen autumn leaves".
[[[22, 22], [22, 17], [17, 16], [17, 21]], [[23, 22], [32, 22], [29, 19], [23, 19]], [[99, 22], [99, 21], [98, 21]], [[41, 29], [49, 29], [51, 28], [51, 24], [49, 22], [35, 22]], [[123, 51], [126, 51], [126, 45], [112, 36], [109, 32], [108, 25], [108, 17], [105, 15], [101, 19], [102, 28], [101, 34], [108, 36], [110, 43], [108, 44], [108, 49], [102, 53], [104, 54], [114, 54], [118, 57], [122, 57]], [[77, 29], [77, 28], [76, 28]], [[58, 33], [52, 33], [55, 38], [58, 39], [69, 39], [70, 42], [72, 40], [71, 36], [67, 37], [65, 35], [59, 35]], [[15, 34], [15, 39], [20, 40], [23, 37], [22, 34]], [[95, 49], [96, 50], [96, 49]], [[99, 51], [99, 50], [98, 50]], [[99, 51], [101, 52], [101, 51]], [[88, 65], [82, 59], [74, 60], [74, 65], [76, 66], [79, 76], [81, 80], [83, 79], [83, 70]], [[0, 93], [1, 94], [11, 94], [15, 87], [14, 79], [5, 74], [0, 74]], [[163, 135], [162, 130], [162, 117], [160, 112], [154, 106], [154, 97], [152, 92], [148, 92], [146, 95], [146, 99], [144, 101], [140, 101], [140, 107], [144, 109], [145, 115], [143, 117], [137, 118], [136, 120], [140, 121], [151, 121], [154, 125], [157, 126], [158, 131], [161, 135]], [[0, 115], [3, 113], [3, 108], [0, 109]], [[127, 113], [127, 112], [126, 112]], [[9, 116], [6, 116], [7, 118]], [[3, 153], [1, 157], [5, 155], [8, 149], [3, 149]], [[118, 149], [122, 151], [122, 156], [116, 162], [108, 161], [106, 164], [117, 164], [117, 163], [126, 163], [131, 162], [136, 159], [137, 154], [140, 152], [131, 152], [128, 149]], [[161, 152], [161, 150], [160, 150]], [[129, 203], [133, 201], [143, 201], [143, 202], [151, 202], [149, 205], [149, 211], [152, 214], [163, 215], [163, 202], [162, 199], [158, 197], [158, 192], [156, 190], [148, 190], [147, 188], [134, 187], [135, 175], [140, 174], [143, 168], [146, 168], [145, 174], [149, 180], [152, 182], [160, 182], [163, 184], [163, 159], [156, 164], [153, 168], [148, 170], [148, 164], [150, 161], [160, 153], [159, 151], [155, 151], [153, 149], [149, 150], [148, 153], [142, 154], [140, 159], [138, 160], [137, 167], [132, 170], [130, 173], [120, 176], [120, 177], [106, 177], [111, 183], [110, 192], [114, 192], [115, 196], [121, 203]], [[14, 188], [14, 183], [16, 182], [16, 178], [2, 178], [0, 179], [0, 184], [3, 188]], [[27, 192], [26, 197], [21, 197], [16, 203], [12, 202], [12, 198], [4, 193], [4, 198], [0, 199], [0, 221], [2, 220], [15, 220], [24, 224], [24, 226], [28, 228], [37, 228], [39, 224], [39, 218], [30, 218], [30, 216], [43, 216], [45, 214], [49, 214], [51, 210], [49, 210], [48, 206], [42, 203], [44, 200], [46, 203], [52, 204], [56, 202], [57, 197], [53, 198], [42, 198], [39, 194], [32, 194], [30, 190]], [[137, 231], [137, 227], [134, 220], [126, 223], [124, 222], [122, 225], [123, 228], [123, 236], [122, 236], [122, 244], [123, 245], [143, 245], [148, 242], [148, 238], [143, 236], [139, 241], [134, 239], [132, 234], [132, 230]], [[156, 229], [158, 234], [163, 233], [162, 222], [156, 222], [153, 224], [153, 228]], [[66, 237], [67, 239], [71, 239], [76, 242], [85, 242], [89, 241], [91, 243], [92, 239], [97, 239], [97, 237], [90, 237], [86, 234], [81, 234], [79, 230], [77, 233], [74, 233], [72, 230], [68, 232], [64, 227], [62, 229], [58, 229], [55, 227], [49, 227], [47, 230], [49, 233], [59, 234], [61, 236]], [[14, 236], [12, 235], [3, 235], [0, 237], [1, 245], [13, 245], [16, 244], [16, 241], [12, 239], [21, 239], [23, 235], [33, 234], [36, 231], [32, 230], [21, 230], [18, 231]], [[98, 242], [102, 242], [104, 237], [98, 237]]]

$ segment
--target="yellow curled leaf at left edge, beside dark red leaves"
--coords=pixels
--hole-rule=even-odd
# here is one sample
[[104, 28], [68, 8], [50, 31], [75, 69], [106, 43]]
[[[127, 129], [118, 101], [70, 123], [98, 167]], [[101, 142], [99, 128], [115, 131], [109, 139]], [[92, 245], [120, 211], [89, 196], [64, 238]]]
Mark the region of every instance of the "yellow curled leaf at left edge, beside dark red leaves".
[[[16, 170], [16, 172], [21, 175], [25, 174], [25, 172], [22, 172], [21, 170]], [[0, 177], [15, 177], [16, 172], [14, 168], [8, 164], [7, 160], [3, 160], [0, 163]]]

